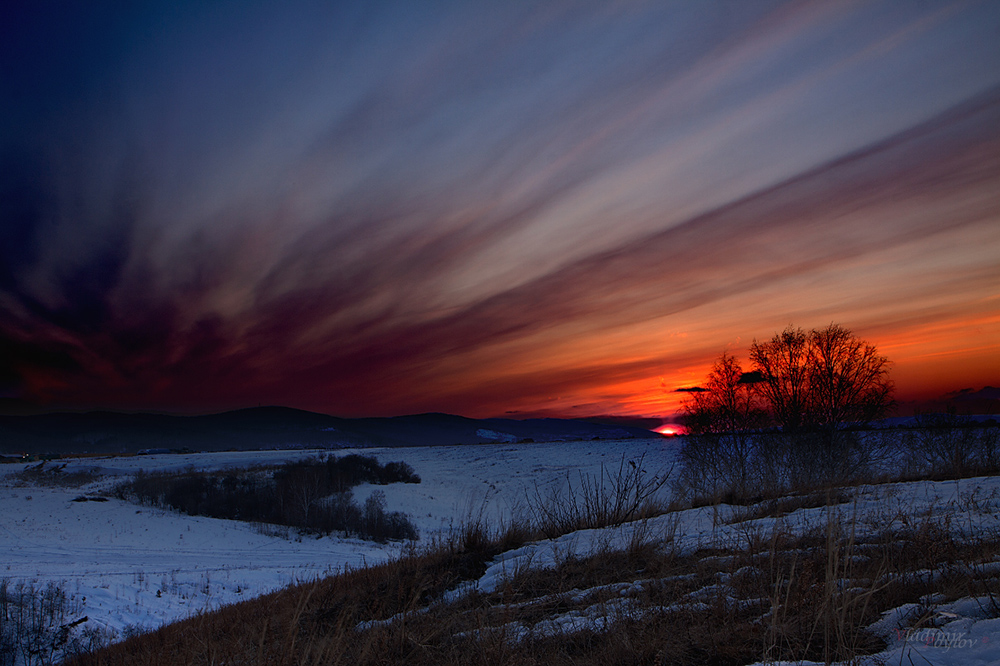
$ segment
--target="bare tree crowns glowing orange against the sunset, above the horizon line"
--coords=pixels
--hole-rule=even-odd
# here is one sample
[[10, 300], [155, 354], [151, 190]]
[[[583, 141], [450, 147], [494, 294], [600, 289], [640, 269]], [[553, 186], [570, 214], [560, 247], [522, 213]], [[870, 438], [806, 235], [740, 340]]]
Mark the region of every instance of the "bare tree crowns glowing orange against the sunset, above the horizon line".
[[808, 333], [790, 326], [754, 340], [750, 361], [744, 372], [723, 353], [706, 385], [690, 389], [685, 420], [692, 434], [835, 430], [882, 418], [894, 404], [889, 360], [837, 324]]

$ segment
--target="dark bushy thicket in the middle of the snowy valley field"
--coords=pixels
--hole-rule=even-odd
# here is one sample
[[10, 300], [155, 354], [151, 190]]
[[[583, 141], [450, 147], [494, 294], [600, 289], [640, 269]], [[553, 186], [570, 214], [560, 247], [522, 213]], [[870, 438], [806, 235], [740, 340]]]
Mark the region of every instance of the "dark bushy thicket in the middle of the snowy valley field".
[[405, 514], [385, 510], [385, 494], [372, 493], [364, 506], [351, 489], [362, 483], [420, 483], [405, 462], [385, 465], [370, 456], [330, 456], [289, 462], [278, 468], [140, 473], [120, 485], [121, 499], [189, 515], [287, 525], [329, 534], [344, 532], [374, 541], [416, 539]]

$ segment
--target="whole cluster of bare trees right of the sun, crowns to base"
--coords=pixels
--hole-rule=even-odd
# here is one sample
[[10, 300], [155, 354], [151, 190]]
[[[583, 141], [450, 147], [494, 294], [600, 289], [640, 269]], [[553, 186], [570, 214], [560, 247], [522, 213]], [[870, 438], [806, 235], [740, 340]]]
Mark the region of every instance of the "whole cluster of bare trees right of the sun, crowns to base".
[[859, 426], [889, 413], [889, 361], [831, 324], [754, 340], [752, 367], [722, 354], [690, 389], [694, 435], [680, 453], [677, 490], [697, 501], [743, 502], [857, 480], [878, 454]]

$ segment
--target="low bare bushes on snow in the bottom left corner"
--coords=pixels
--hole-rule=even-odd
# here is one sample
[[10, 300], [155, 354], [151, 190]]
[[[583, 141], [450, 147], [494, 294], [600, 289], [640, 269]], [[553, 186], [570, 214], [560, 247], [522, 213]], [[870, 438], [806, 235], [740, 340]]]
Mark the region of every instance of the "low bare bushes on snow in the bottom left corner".
[[0, 666], [54, 664], [107, 645], [100, 628], [82, 628], [80, 604], [57, 583], [0, 580]]

